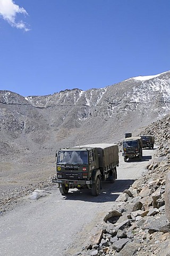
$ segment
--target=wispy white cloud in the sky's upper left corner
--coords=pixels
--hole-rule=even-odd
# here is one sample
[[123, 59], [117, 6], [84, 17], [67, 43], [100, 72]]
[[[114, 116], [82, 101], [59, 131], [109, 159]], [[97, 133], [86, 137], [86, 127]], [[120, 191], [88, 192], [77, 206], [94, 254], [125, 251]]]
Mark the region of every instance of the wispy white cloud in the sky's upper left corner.
[[4, 20], [10, 23], [12, 27], [28, 31], [29, 29], [22, 20], [16, 21], [16, 15], [18, 13], [28, 15], [28, 13], [23, 9], [23, 7], [16, 5], [14, 1], [0, 0], [0, 16], [2, 16]]

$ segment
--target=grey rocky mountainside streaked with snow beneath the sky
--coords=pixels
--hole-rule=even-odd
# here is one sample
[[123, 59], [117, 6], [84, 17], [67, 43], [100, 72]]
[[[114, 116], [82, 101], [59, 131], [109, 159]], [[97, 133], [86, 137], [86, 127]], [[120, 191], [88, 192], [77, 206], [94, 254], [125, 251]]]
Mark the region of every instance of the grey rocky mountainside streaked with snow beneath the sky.
[[169, 113], [170, 71], [103, 89], [46, 96], [24, 98], [0, 91], [0, 107], [1, 145], [21, 153], [21, 148], [55, 150], [79, 143], [116, 142], [125, 132], [135, 133]]

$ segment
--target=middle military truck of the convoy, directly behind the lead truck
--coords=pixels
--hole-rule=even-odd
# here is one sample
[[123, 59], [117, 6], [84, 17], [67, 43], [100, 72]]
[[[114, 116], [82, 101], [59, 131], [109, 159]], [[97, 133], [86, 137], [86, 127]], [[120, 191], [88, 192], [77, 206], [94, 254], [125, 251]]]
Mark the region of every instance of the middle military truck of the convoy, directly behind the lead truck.
[[123, 140], [123, 153], [124, 162], [128, 158], [139, 158], [142, 159], [142, 138], [141, 137], [131, 137]]

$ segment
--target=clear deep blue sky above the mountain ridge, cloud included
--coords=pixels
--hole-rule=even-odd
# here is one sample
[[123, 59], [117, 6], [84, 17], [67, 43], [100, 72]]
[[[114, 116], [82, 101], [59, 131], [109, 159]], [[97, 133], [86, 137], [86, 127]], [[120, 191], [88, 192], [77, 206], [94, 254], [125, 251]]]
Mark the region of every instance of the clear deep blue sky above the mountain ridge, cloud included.
[[0, 90], [88, 90], [170, 70], [169, 0], [0, 0]]

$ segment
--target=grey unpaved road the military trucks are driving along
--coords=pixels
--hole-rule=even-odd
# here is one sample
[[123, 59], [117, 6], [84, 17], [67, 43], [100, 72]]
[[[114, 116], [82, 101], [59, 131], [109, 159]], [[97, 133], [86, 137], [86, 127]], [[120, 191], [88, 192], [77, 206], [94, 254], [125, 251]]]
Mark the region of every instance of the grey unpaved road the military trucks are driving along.
[[0, 254], [5, 256], [66, 256], [81, 251], [91, 233], [116, 204], [116, 198], [139, 178], [155, 150], [143, 150], [141, 162], [123, 162], [120, 153], [118, 179], [104, 182], [98, 197], [90, 190], [60, 194], [57, 186], [38, 200], [22, 198], [0, 216]]

